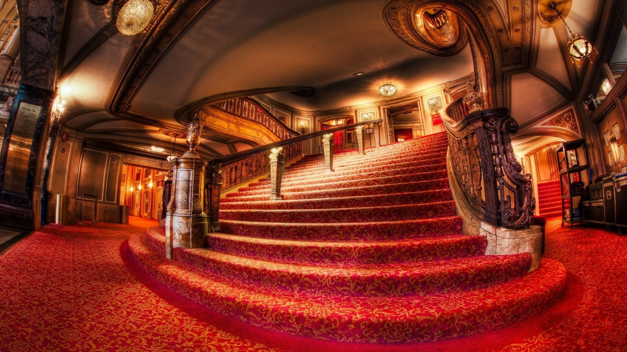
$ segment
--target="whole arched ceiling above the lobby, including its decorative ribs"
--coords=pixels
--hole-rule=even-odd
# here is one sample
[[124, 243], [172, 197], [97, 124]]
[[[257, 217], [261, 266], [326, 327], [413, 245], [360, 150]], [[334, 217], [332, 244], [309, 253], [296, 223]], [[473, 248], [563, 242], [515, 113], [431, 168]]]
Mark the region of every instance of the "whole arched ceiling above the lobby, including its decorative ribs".
[[[301, 110], [325, 110], [381, 100], [376, 88], [382, 83], [394, 83], [397, 94], [404, 95], [473, 71], [469, 46], [443, 58], [399, 40], [382, 19], [386, 0], [179, 1], [177, 5], [189, 5], [177, 13], [187, 14], [188, 19], [180, 31], [155, 24], [147, 34], [128, 37], [115, 31], [113, 1], [97, 6], [88, 0], [70, 0], [71, 20], [63, 31], [59, 70], [68, 102], [66, 128], [144, 148], [144, 144], [171, 141], [155, 133], [160, 128], [183, 129], [174, 119], [175, 110], [225, 91], [315, 86], [317, 93], [307, 98], [290, 93], [271, 97]], [[515, 111], [519, 122], [540, 118], [544, 111], [573, 100], [581, 77], [563, 55], [567, 38], [561, 24], [525, 28], [532, 45], [525, 64], [512, 51], [515, 46], [521, 52], [517, 55], [525, 51], [520, 49], [525, 35], [515, 28], [524, 28], [524, 14], [533, 13], [533, 1], [462, 2], [488, 14], [485, 25], [495, 33], [505, 28], [495, 40], [503, 50], [505, 105]], [[197, 13], [189, 10], [192, 5]], [[589, 37], [596, 16], [598, 0], [573, 0], [567, 20], [573, 31]], [[161, 46], [157, 39], [167, 44]], [[130, 70], [133, 65], [136, 71]], [[353, 76], [359, 71], [366, 73]], [[542, 92], [534, 109], [527, 110], [530, 85], [535, 83], [543, 87]], [[112, 109], [120, 101], [116, 95], [124, 103]], [[129, 118], [132, 121], [125, 120]], [[250, 148], [243, 140], [216, 134], [205, 137], [205, 148], [199, 149], [207, 158]]]

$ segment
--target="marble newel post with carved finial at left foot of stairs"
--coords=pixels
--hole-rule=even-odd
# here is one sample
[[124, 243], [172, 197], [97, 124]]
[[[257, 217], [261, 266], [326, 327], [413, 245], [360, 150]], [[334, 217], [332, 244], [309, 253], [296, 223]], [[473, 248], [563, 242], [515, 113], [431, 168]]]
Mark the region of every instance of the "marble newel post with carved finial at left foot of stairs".
[[169, 258], [171, 258], [172, 248], [204, 247], [204, 236], [208, 232], [208, 215], [204, 211], [207, 162], [196, 153], [196, 145], [200, 143], [201, 129], [202, 126], [198, 120], [194, 119], [189, 123], [186, 138], [189, 150], [177, 159], [174, 170], [172, 180], [174, 191], [172, 201], [168, 206], [171, 224], [166, 224], [166, 256]]

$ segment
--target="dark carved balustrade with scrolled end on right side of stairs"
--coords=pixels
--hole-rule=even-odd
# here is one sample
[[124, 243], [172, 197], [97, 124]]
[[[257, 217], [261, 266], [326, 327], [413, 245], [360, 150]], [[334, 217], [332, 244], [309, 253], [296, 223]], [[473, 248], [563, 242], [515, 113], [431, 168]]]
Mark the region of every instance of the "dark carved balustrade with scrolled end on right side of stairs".
[[[523, 175], [510, 134], [518, 123], [507, 108], [465, 111], [462, 100], [442, 110], [453, 174], [483, 221], [510, 229], [533, 223], [535, 199], [531, 175]], [[451, 116], [453, 115], [453, 116]]]

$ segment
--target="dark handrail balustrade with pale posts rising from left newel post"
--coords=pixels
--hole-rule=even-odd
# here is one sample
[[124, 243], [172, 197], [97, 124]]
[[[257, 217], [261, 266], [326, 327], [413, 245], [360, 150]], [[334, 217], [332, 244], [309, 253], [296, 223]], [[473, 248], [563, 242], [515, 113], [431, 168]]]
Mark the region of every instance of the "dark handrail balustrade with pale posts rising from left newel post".
[[[379, 147], [380, 143], [378, 139], [381, 122], [382, 120], [374, 120], [352, 123], [350, 125], [330, 128], [329, 130], [312, 132], [306, 135], [297, 135], [286, 140], [251, 148], [221, 159], [213, 160], [209, 165], [209, 170], [206, 174], [206, 182], [204, 183], [206, 185], [206, 192], [204, 192], [206, 195], [204, 198], [204, 208], [209, 211], [211, 230], [213, 232], [220, 231], [218, 214], [222, 189], [229, 189], [270, 172], [271, 190], [268, 194], [268, 199], [280, 200], [282, 165], [283, 163], [288, 163], [302, 156], [301, 142], [323, 135], [332, 135], [334, 132], [347, 130], [349, 128], [355, 128], [358, 134], [357, 142], [359, 144], [359, 151], [363, 154], [363, 127], [372, 125], [374, 128], [376, 146]], [[359, 133], [362, 134], [361, 138]], [[327, 138], [327, 140], [328, 139], [330, 139], [330, 137]], [[332, 168], [330, 167], [332, 153], [333, 148], [325, 148], [325, 163], [327, 165], [327, 171], [329, 172], [332, 172]]]

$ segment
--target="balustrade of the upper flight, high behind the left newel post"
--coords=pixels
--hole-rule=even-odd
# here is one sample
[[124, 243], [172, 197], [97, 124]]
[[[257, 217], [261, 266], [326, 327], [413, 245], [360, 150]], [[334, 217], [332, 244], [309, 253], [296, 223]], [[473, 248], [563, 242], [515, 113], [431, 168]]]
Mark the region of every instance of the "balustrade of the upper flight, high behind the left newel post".
[[290, 130], [290, 128], [250, 98], [235, 98], [221, 101], [220, 103], [212, 104], [211, 107], [260, 123], [282, 140], [298, 135], [297, 132]]

